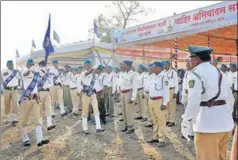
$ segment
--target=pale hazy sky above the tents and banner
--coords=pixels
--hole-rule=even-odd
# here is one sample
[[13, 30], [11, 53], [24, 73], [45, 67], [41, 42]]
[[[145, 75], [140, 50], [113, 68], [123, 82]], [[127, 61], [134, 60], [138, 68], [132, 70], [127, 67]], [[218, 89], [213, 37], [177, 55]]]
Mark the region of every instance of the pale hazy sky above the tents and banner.
[[[140, 1], [144, 7], [153, 8], [149, 16], [137, 17], [139, 22], [130, 26], [168, 17], [209, 6], [221, 1]], [[16, 61], [16, 49], [20, 56], [29, 55], [34, 39], [36, 49], [42, 42], [51, 13], [51, 32], [55, 30], [61, 44], [87, 40], [88, 30], [99, 14], [114, 14], [113, 8], [105, 8], [110, 1], [3, 1], [1, 2], [1, 68], [7, 60]], [[130, 27], [128, 26], [128, 27]], [[53, 42], [55, 43], [55, 42]]]

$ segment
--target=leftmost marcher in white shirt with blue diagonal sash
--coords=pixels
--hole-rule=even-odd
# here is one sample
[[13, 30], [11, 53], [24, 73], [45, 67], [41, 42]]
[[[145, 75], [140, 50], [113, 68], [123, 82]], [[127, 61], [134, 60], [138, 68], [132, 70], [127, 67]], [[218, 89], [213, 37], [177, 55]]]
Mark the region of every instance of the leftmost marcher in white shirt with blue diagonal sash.
[[17, 88], [19, 86], [19, 71], [14, 69], [13, 61], [7, 61], [7, 70], [2, 71], [3, 77], [3, 87], [4, 87], [4, 107], [5, 114], [7, 116], [7, 122], [11, 123], [13, 126], [18, 123], [17, 114], [18, 114], [18, 91]]

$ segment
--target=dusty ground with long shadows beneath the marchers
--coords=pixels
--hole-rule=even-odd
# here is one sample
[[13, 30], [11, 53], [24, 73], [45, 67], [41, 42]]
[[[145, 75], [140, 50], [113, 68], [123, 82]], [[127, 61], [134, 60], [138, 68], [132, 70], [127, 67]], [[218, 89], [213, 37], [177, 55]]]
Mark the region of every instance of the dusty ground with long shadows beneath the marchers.
[[183, 107], [177, 107], [177, 125], [168, 128], [168, 143], [164, 148], [146, 143], [152, 138], [152, 129], [136, 122], [136, 131], [128, 136], [121, 133], [123, 123], [119, 117], [108, 118], [103, 133], [95, 132], [95, 125], [89, 122], [90, 134], [82, 133], [80, 117], [72, 114], [61, 118], [58, 114], [53, 122], [56, 128], [48, 132], [44, 126], [44, 135], [50, 144], [36, 147], [33, 126], [29, 128], [32, 146], [21, 146], [20, 124], [17, 127], [2, 126], [2, 160], [194, 160], [193, 144], [181, 139], [180, 123]]

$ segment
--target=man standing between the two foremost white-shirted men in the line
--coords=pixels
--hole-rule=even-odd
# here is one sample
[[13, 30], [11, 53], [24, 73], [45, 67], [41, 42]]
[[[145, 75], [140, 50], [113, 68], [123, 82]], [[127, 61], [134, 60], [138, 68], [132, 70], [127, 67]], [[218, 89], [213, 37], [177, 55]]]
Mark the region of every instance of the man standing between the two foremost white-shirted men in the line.
[[136, 117], [135, 119], [137, 120], [142, 120], [142, 122], [147, 121], [147, 116], [146, 116], [146, 99], [144, 95], [144, 83], [145, 83], [145, 76], [146, 76], [146, 67], [143, 64], [140, 64], [138, 66], [138, 78], [137, 78], [137, 83], [138, 83], [138, 92], [137, 92], [137, 97], [138, 97], [138, 106], [140, 107], [139, 109], [139, 116]]

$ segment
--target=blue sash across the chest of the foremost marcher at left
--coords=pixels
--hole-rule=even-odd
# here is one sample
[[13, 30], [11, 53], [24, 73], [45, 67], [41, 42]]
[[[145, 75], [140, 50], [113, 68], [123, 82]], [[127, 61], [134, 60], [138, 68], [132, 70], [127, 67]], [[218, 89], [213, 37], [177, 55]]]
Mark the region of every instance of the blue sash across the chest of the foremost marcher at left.
[[32, 91], [34, 90], [34, 88], [37, 85], [38, 78], [39, 78], [39, 72], [35, 72], [30, 85], [27, 87], [26, 90], [23, 91], [23, 94], [22, 94], [20, 100], [18, 101], [19, 104], [22, 103], [22, 100], [24, 97], [29, 97], [31, 95]]

